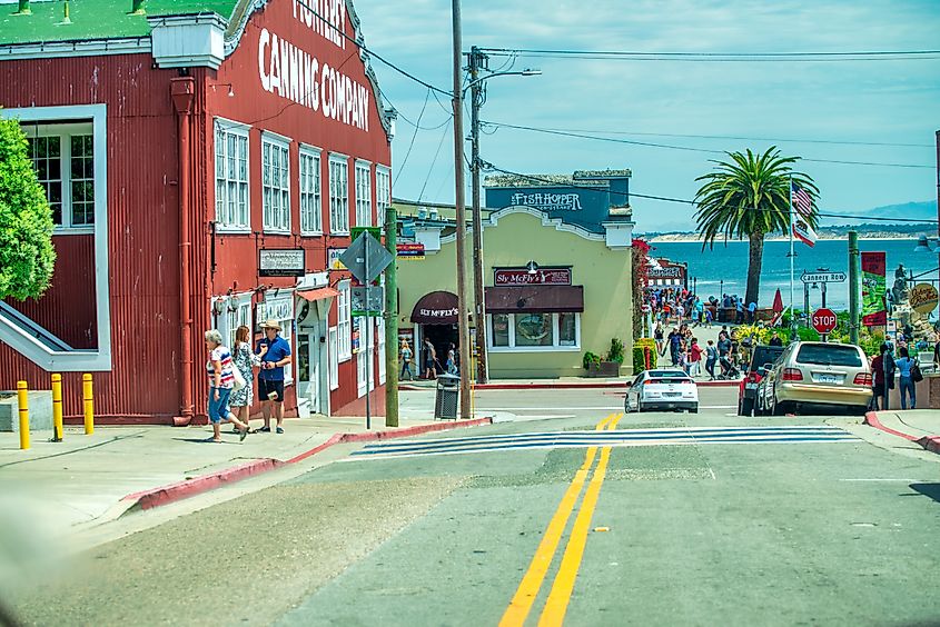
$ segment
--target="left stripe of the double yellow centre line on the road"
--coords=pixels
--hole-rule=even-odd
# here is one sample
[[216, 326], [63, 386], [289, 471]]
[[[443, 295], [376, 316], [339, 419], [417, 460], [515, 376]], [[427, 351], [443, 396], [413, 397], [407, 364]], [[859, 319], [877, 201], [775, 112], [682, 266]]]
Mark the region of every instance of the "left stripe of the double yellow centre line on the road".
[[[594, 429], [596, 431], [606, 429], [608, 426], [613, 425], [613, 420], [616, 416], [616, 414], [611, 414], [597, 422]], [[525, 619], [532, 609], [532, 604], [535, 603], [535, 598], [538, 596], [538, 590], [542, 588], [542, 581], [545, 580], [545, 574], [552, 566], [555, 551], [558, 549], [558, 543], [562, 539], [562, 535], [565, 533], [568, 518], [571, 518], [571, 512], [574, 510], [577, 497], [581, 496], [581, 489], [584, 487], [584, 480], [587, 477], [587, 472], [591, 470], [591, 467], [594, 465], [594, 457], [596, 455], [597, 447], [588, 447], [584, 455], [584, 464], [582, 464], [581, 468], [578, 468], [575, 472], [574, 479], [572, 479], [568, 489], [565, 490], [557, 509], [555, 509], [555, 514], [548, 521], [548, 527], [542, 536], [542, 541], [538, 543], [538, 548], [535, 549], [535, 555], [532, 557], [528, 569], [523, 576], [522, 581], [520, 581], [518, 588], [516, 588], [516, 594], [513, 595], [513, 599], [509, 601], [509, 606], [503, 614], [503, 618], [499, 620], [499, 627], [516, 627], [525, 624]]]

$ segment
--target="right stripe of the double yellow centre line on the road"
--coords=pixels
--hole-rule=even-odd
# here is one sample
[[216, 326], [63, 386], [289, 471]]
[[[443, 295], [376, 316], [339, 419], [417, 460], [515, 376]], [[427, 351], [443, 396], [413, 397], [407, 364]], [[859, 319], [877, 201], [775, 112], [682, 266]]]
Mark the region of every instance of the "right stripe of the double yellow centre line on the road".
[[[623, 414], [617, 415], [611, 427], [616, 427], [621, 418], [623, 418]], [[574, 583], [577, 579], [577, 571], [581, 569], [581, 563], [584, 558], [584, 546], [587, 544], [591, 518], [594, 516], [594, 508], [597, 506], [597, 497], [601, 495], [601, 486], [604, 485], [604, 477], [607, 476], [607, 461], [610, 458], [611, 447], [605, 446], [601, 449], [601, 461], [591, 477], [587, 491], [584, 492], [584, 500], [581, 502], [581, 509], [577, 511], [577, 518], [575, 518], [571, 536], [568, 536], [568, 544], [562, 557], [562, 565], [555, 575], [552, 591], [548, 593], [545, 607], [542, 609], [542, 616], [538, 618], [540, 627], [555, 627], [564, 623], [571, 594], [574, 590]]]

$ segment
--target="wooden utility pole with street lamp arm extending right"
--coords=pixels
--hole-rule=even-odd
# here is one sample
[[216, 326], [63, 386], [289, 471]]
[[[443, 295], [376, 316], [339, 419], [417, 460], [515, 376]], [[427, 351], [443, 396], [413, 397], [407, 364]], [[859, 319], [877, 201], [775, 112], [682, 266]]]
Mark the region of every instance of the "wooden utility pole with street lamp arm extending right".
[[479, 76], [487, 57], [473, 46], [469, 51], [471, 81], [464, 91], [471, 90], [471, 173], [473, 176], [473, 319], [476, 322], [476, 381], [485, 384], [489, 379], [489, 365], [486, 356], [486, 298], [483, 286], [483, 218], [479, 207], [479, 108], [483, 106], [483, 83], [494, 77], [534, 77], [542, 70], [526, 68], [520, 71], [492, 72]]

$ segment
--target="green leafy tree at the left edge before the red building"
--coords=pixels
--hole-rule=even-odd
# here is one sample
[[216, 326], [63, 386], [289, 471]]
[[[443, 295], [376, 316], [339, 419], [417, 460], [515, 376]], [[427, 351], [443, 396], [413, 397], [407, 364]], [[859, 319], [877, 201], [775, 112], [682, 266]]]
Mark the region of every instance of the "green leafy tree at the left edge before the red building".
[[0, 298], [38, 298], [56, 265], [52, 211], [17, 120], [0, 120]]

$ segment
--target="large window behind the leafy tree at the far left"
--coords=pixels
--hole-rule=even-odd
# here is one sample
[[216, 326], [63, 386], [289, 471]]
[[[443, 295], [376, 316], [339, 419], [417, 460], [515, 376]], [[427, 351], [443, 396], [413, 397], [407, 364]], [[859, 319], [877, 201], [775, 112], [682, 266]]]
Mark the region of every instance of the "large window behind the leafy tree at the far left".
[[23, 122], [39, 178], [57, 231], [95, 230], [95, 137], [91, 122], [30, 125]]

